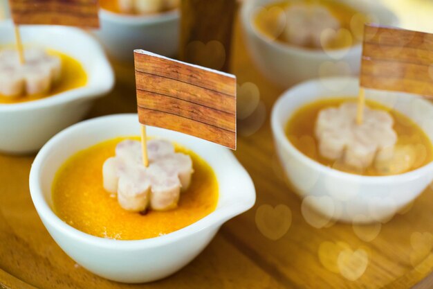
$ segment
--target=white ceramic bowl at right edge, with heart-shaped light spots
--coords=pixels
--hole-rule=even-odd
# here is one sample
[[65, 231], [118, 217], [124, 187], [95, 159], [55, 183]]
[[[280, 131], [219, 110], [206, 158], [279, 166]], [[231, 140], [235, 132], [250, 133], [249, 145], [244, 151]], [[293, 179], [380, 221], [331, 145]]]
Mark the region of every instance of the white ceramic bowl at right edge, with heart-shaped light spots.
[[[337, 91], [338, 89], [338, 91]], [[297, 150], [285, 134], [294, 112], [315, 100], [356, 96], [356, 78], [311, 80], [288, 89], [277, 100], [271, 116], [279, 159], [286, 176], [301, 198], [313, 197], [315, 209], [325, 218], [345, 222], [374, 222], [391, 216], [414, 200], [433, 179], [433, 163], [408, 173], [367, 177], [323, 166]], [[366, 98], [409, 116], [433, 140], [433, 105], [418, 96], [366, 91]]]

